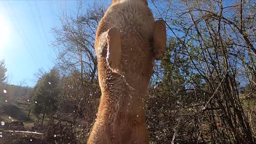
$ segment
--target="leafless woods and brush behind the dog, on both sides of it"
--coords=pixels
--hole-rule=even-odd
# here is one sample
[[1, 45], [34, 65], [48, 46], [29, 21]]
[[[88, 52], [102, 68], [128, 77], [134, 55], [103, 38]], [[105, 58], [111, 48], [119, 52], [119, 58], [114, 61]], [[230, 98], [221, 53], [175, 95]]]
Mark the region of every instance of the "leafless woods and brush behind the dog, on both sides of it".
[[[167, 30], [166, 52], [155, 63], [146, 97], [150, 142], [255, 143], [256, 2], [148, 3]], [[31, 94], [31, 109], [42, 122], [53, 114], [75, 119], [78, 143], [86, 141], [97, 116], [93, 45], [109, 4], [81, 1], [76, 14], [61, 12], [62, 27], [52, 29], [57, 65], [39, 76]]]

